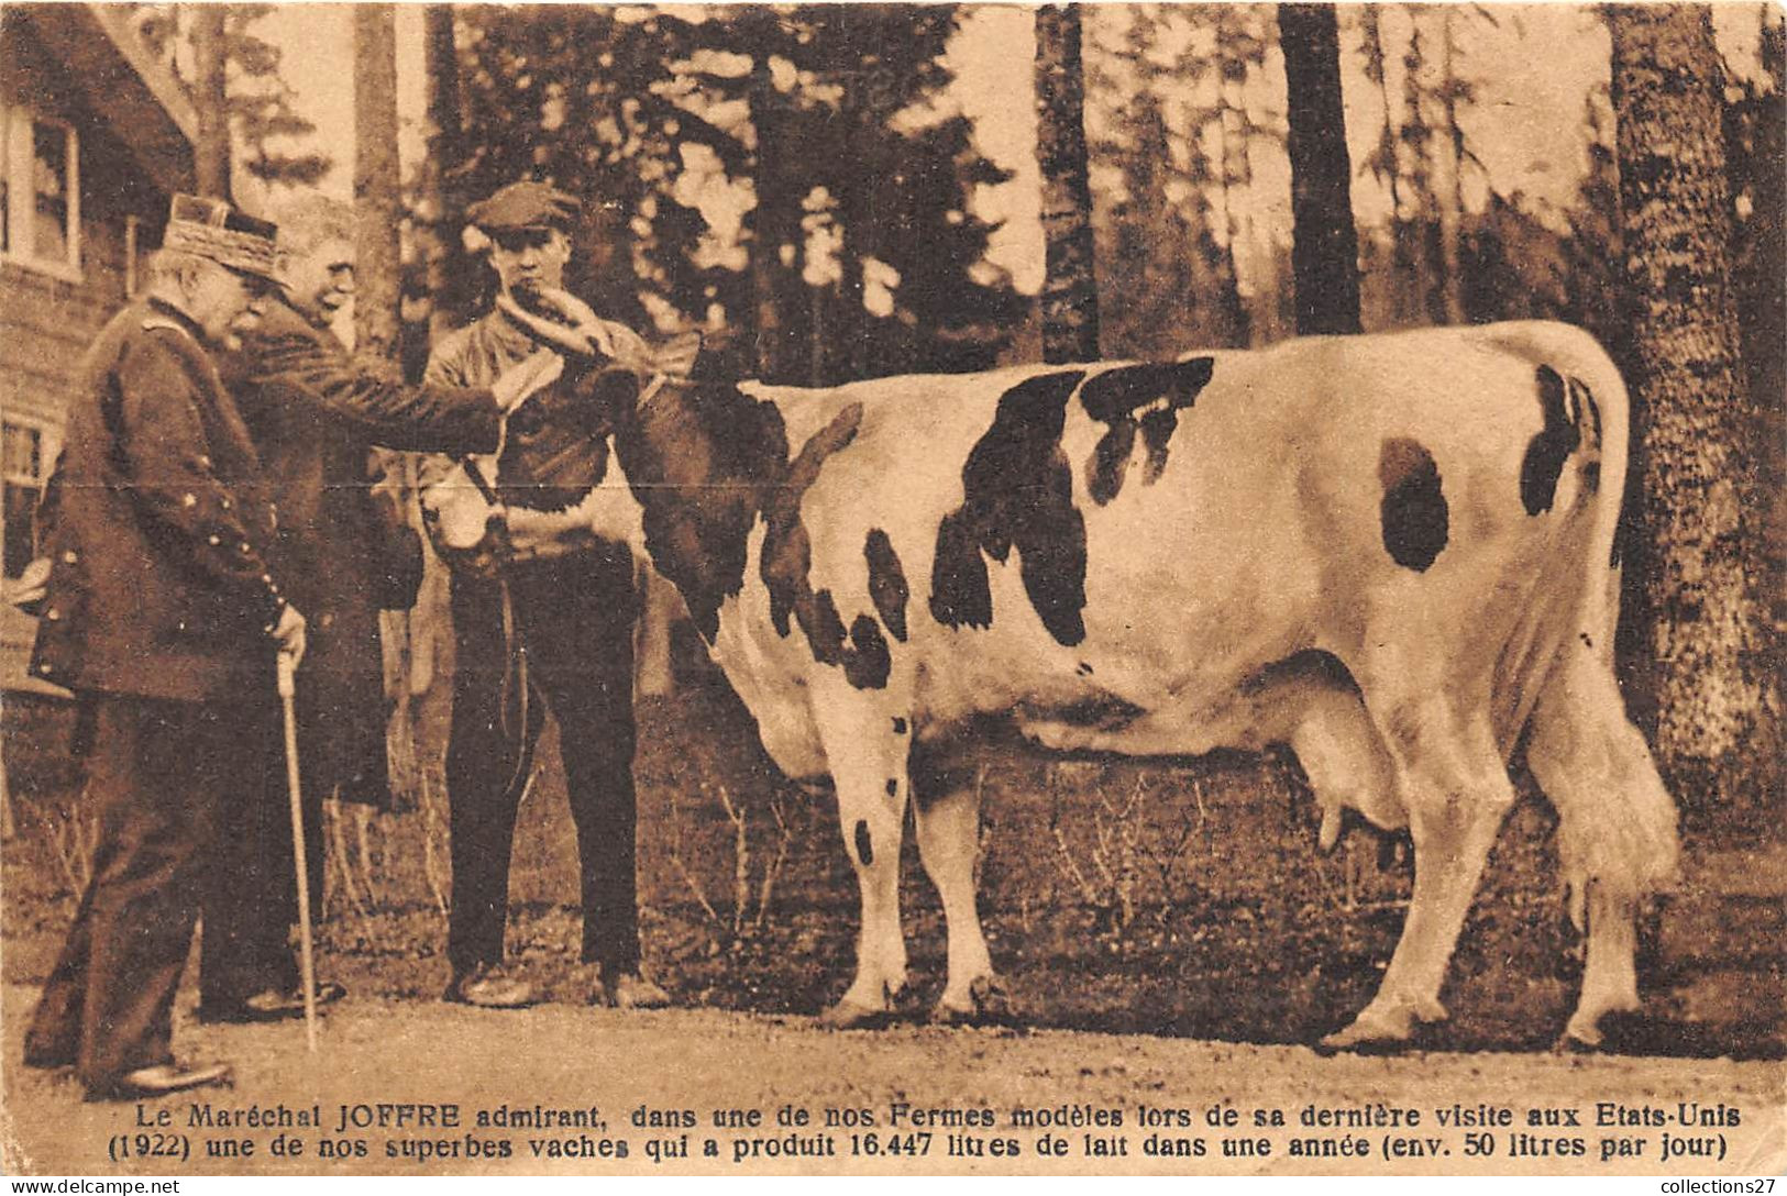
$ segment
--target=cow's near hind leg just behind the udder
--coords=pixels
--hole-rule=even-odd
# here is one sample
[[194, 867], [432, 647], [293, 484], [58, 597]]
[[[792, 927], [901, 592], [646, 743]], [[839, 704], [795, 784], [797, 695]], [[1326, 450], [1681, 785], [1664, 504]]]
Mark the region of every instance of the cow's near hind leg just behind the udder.
[[1483, 864], [1514, 785], [1487, 727], [1460, 727], [1430, 712], [1406, 712], [1399, 757], [1406, 778], [1408, 830], [1415, 843], [1415, 891], [1403, 937], [1378, 994], [1353, 1023], [1322, 1039], [1328, 1050], [1399, 1046], [1415, 1021], [1440, 1021], [1440, 984], [1476, 896]]

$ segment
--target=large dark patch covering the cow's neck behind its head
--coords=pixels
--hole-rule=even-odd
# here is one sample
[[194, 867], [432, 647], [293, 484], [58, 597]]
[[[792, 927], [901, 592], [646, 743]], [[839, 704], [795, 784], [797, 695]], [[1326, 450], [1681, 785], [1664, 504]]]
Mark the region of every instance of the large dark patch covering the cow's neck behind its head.
[[720, 605], [745, 584], [745, 541], [763, 494], [788, 468], [774, 403], [729, 384], [672, 382], [638, 411], [638, 380], [613, 403], [615, 452], [645, 509], [645, 548], [709, 644]]

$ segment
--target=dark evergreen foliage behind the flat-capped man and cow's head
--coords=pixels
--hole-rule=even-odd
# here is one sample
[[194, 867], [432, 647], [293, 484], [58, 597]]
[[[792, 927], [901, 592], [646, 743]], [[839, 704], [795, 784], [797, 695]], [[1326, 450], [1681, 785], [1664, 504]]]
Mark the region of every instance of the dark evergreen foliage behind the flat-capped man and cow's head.
[[970, 203], [1004, 175], [942, 102], [954, 27], [942, 5], [466, 9], [452, 184], [581, 195], [572, 286], [709, 328], [740, 373], [986, 366], [1024, 302]]

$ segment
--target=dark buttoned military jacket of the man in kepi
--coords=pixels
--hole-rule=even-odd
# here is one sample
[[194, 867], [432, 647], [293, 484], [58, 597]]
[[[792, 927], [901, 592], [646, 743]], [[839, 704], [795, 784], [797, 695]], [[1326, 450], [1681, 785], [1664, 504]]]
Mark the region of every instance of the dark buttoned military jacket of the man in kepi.
[[198, 330], [132, 303], [82, 359], [52, 491], [32, 671], [214, 702], [273, 684], [284, 596], [261, 461]]

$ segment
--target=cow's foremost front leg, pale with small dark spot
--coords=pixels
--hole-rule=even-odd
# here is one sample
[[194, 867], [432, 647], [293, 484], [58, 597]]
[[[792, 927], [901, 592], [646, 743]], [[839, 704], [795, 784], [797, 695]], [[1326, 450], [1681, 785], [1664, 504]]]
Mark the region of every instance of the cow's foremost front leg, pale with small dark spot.
[[906, 743], [885, 693], [813, 689], [820, 743], [838, 794], [843, 850], [856, 866], [861, 928], [856, 980], [820, 1014], [826, 1026], [860, 1026], [885, 1017], [906, 987], [906, 937], [899, 923], [899, 850], [906, 821]]

